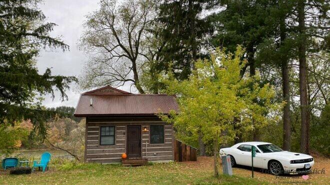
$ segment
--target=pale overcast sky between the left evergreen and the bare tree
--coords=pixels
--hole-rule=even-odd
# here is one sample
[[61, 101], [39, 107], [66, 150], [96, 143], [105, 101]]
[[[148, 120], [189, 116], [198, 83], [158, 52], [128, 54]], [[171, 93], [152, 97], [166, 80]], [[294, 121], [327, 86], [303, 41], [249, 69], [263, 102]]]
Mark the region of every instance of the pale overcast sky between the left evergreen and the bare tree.
[[[45, 50], [40, 52], [37, 59], [37, 67], [43, 73], [47, 67], [51, 67], [52, 74], [65, 76], [79, 76], [84, 63], [85, 55], [77, 49], [77, 41], [82, 33], [82, 24], [85, 15], [98, 8], [98, 0], [44, 0], [40, 3], [40, 9], [47, 17], [47, 22], [54, 22], [58, 26], [54, 28], [50, 35], [61, 36], [64, 43], [70, 46], [69, 51], [62, 52]], [[125, 87], [123, 87], [125, 90]], [[45, 96], [43, 105], [46, 107], [72, 106], [75, 107], [79, 99], [76, 85], [72, 84], [67, 91], [68, 101], [62, 102], [59, 93], [55, 93], [55, 99]]]

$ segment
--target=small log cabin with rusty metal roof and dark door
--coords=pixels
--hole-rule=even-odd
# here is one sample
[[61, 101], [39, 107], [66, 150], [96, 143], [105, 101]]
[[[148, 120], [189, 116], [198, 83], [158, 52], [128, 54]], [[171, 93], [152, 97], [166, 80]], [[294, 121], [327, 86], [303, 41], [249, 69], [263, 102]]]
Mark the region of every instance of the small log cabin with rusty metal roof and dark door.
[[128, 159], [174, 161], [172, 125], [156, 114], [178, 111], [173, 96], [131, 94], [110, 86], [82, 93], [74, 116], [85, 117], [84, 161], [118, 163]]

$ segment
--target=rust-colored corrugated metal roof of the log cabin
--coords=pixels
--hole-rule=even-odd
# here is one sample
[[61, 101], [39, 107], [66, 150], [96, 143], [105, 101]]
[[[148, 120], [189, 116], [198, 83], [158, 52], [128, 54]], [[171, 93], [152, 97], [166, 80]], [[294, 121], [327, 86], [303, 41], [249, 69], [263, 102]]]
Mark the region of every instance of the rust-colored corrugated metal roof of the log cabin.
[[102, 93], [96, 89], [81, 94], [74, 116], [154, 115], [159, 112], [168, 114], [170, 110], [178, 112], [178, 105], [174, 96], [123, 93], [125, 91], [113, 93], [111, 90], [114, 88], [107, 88], [110, 90], [108, 93], [104, 91], [104, 88], [101, 88]]

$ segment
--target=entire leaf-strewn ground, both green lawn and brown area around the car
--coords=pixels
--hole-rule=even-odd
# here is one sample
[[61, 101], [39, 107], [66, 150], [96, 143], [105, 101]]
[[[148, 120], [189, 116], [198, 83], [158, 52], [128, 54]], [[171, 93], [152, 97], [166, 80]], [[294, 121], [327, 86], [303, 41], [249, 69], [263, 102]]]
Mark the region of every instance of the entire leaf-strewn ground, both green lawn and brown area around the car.
[[[309, 174], [308, 180], [300, 176], [272, 176], [258, 172], [251, 177], [249, 168], [234, 168], [234, 176], [212, 177], [212, 158], [199, 157], [197, 162], [152, 164], [141, 167], [99, 164], [55, 164], [45, 173], [31, 175], [9, 175], [0, 171], [0, 185], [5, 184], [225, 184], [225, 185], [264, 185], [264, 184], [315, 184], [330, 182], [330, 159], [314, 157], [313, 169], [324, 169], [325, 174]], [[220, 172], [222, 167], [220, 166]]]

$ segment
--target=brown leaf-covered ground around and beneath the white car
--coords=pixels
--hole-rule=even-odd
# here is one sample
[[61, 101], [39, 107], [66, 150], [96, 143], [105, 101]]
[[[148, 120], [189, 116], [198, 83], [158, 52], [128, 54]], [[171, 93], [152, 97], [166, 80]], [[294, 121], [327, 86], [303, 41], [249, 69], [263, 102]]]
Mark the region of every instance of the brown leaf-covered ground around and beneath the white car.
[[[255, 169], [254, 178], [263, 182], [271, 184], [318, 184], [326, 185], [330, 182], [330, 159], [321, 157], [318, 155], [312, 155], [314, 157], [314, 166], [312, 172], [308, 174], [308, 179], [302, 179], [302, 175], [283, 175], [273, 176], [266, 173], [261, 173], [261, 169]], [[182, 166], [194, 170], [210, 171], [213, 170], [213, 158], [212, 157], [198, 157], [197, 162], [182, 162]], [[222, 166], [220, 164], [220, 173], [222, 173]], [[322, 171], [323, 170], [323, 171]], [[233, 168], [232, 173], [235, 176], [251, 177], [251, 168], [249, 167], [236, 167]]]

